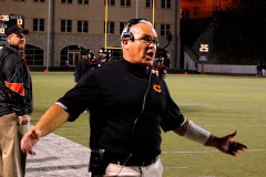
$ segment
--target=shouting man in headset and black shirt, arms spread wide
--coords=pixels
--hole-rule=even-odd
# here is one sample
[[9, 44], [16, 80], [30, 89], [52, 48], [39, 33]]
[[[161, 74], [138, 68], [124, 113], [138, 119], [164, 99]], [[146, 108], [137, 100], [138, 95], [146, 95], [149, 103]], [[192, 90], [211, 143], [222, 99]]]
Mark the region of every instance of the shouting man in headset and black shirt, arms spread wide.
[[84, 75], [51, 106], [21, 142], [25, 153], [41, 136], [89, 107], [92, 176], [161, 177], [161, 128], [237, 156], [247, 146], [236, 132], [216, 137], [183, 116], [166, 83], [151, 73], [157, 34], [147, 20], [132, 19], [121, 35], [123, 59]]

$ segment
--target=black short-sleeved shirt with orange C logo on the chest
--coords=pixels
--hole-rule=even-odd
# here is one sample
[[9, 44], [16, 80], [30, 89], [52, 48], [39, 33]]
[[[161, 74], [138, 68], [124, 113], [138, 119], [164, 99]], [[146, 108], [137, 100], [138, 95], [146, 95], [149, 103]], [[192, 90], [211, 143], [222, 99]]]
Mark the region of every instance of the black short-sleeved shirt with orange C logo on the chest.
[[141, 159], [161, 153], [161, 127], [173, 131], [185, 121], [165, 82], [126, 60], [85, 73], [58, 102], [70, 113], [69, 121], [90, 108], [91, 148]]

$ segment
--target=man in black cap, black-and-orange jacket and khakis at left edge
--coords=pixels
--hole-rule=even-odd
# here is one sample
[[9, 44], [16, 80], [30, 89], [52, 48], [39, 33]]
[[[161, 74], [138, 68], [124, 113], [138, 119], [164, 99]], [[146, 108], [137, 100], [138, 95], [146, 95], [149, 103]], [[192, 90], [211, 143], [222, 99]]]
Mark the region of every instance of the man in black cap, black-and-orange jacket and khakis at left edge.
[[29, 30], [12, 25], [7, 44], [0, 46], [0, 176], [23, 177], [25, 154], [20, 140], [28, 131], [33, 110], [32, 84], [19, 50], [24, 50]]

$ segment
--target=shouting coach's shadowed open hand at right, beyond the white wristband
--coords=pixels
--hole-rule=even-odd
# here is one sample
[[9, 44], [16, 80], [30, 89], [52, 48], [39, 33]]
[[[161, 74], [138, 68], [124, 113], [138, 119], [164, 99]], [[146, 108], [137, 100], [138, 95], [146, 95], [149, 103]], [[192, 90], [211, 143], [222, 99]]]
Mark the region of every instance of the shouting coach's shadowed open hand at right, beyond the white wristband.
[[[232, 156], [237, 157], [239, 152], [245, 152], [247, 149], [247, 146], [236, 142], [234, 137], [236, 136], [237, 131], [235, 133], [224, 136], [224, 137], [213, 137], [214, 139], [212, 140], [214, 144], [211, 145], [208, 142], [206, 143], [207, 146], [214, 146], [217, 149], [219, 149], [223, 153], [229, 154]], [[212, 138], [212, 137], [211, 137]]]

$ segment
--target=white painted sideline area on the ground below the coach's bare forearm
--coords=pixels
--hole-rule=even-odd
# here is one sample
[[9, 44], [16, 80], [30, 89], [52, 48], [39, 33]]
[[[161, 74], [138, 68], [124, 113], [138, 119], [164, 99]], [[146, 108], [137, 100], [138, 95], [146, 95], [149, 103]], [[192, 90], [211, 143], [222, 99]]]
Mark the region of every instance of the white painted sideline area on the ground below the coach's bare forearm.
[[55, 134], [49, 134], [33, 147], [35, 156], [28, 155], [25, 177], [88, 176], [90, 149]]

